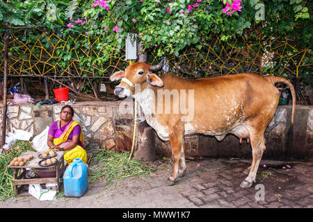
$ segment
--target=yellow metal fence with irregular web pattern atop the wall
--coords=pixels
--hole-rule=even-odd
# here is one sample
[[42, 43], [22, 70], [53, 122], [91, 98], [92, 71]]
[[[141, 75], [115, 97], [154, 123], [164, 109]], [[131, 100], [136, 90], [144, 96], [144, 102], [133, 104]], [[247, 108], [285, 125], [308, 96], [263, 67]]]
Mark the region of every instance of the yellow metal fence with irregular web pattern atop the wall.
[[[10, 34], [9, 76], [107, 78], [129, 64], [125, 60], [124, 49], [108, 52], [99, 48], [97, 45], [103, 43], [99, 37], [92, 40], [90, 36], [79, 34], [63, 40], [56, 34], [42, 33], [33, 42], [35, 44], [19, 40], [14, 33]], [[85, 43], [80, 45], [79, 42]], [[3, 48], [3, 42], [0, 42], [1, 54]], [[62, 55], [65, 50], [72, 56]], [[149, 63], [157, 64], [162, 59], [155, 56], [154, 50], [150, 50], [148, 54]], [[212, 35], [208, 41], [200, 42], [198, 46], [187, 47], [179, 56], [165, 57], [167, 63], [163, 67], [164, 71], [174, 71], [189, 78], [244, 72], [287, 78], [310, 77], [313, 64], [311, 49], [273, 36], [266, 39], [259, 36], [254, 40], [241, 37], [222, 42], [219, 36]], [[100, 64], [95, 62], [100, 58]], [[2, 58], [0, 71], [3, 71]]]

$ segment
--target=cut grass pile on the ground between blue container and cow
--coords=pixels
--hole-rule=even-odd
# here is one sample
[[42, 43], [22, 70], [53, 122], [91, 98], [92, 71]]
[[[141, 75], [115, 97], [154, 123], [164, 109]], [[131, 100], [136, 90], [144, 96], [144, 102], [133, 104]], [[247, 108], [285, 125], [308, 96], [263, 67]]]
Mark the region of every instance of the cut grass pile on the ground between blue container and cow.
[[106, 189], [113, 189], [118, 182], [125, 178], [139, 178], [148, 176], [156, 171], [154, 167], [149, 167], [145, 162], [129, 160], [129, 153], [117, 153], [104, 149], [97, 149], [97, 154], [93, 157], [93, 164], [88, 170], [88, 182], [95, 181], [104, 183]]

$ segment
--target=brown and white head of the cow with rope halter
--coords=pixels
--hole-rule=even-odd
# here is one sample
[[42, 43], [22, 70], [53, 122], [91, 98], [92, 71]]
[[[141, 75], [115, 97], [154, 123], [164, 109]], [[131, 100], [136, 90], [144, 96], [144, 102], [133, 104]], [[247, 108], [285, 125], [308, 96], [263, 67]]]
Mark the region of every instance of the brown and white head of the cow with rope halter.
[[131, 96], [135, 93], [135, 85], [149, 83], [150, 85], [163, 87], [163, 81], [159, 76], [153, 74], [150, 70], [150, 65], [145, 62], [135, 62], [128, 67], [125, 71], [116, 71], [110, 80], [121, 80], [120, 84], [115, 87], [114, 94], [120, 98]]

